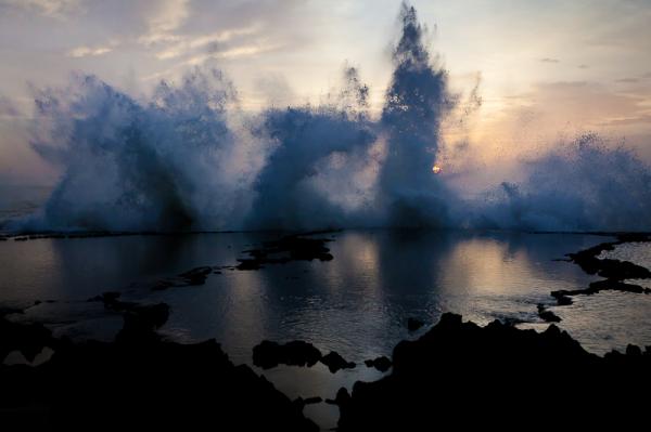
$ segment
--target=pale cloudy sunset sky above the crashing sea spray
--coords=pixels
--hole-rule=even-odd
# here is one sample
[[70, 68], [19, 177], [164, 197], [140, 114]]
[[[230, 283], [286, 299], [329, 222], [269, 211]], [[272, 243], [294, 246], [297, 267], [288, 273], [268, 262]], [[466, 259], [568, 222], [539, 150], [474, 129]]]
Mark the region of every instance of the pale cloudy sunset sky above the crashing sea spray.
[[[591, 131], [651, 162], [651, 0], [411, 1], [464, 100], [444, 125], [484, 167]], [[400, 0], [0, 0], [0, 182], [52, 183], [31, 150], [34, 89], [94, 74], [144, 97], [213, 62], [241, 105], [318, 104], [344, 65], [359, 69], [373, 112], [391, 79]]]

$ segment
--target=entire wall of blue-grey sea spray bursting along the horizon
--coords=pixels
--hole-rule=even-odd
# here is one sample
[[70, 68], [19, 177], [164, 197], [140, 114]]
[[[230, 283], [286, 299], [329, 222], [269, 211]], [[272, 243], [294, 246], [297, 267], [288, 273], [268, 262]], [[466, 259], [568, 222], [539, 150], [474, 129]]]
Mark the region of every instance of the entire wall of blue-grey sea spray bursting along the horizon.
[[[319, 105], [257, 114], [209, 65], [144, 102], [82, 75], [38, 92], [31, 144], [62, 176], [42, 211], [9, 227], [651, 230], [651, 169], [593, 134], [524, 160], [523, 180], [462, 194], [476, 199], [454, 193], [433, 168], [462, 104], [414, 9], [399, 19], [379, 119], [354, 67]], [[471, 100], [480, 105], [476, 87]]]

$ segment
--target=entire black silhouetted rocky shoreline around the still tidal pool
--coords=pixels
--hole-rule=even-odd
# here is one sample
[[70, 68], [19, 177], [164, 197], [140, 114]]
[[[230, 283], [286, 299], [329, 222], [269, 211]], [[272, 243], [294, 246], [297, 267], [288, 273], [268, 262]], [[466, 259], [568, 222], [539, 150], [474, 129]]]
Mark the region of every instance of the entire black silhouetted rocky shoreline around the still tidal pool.
[[[567, 254], [569, 261], [604, 279], [551, 296], [563, 305], [573, 296], [604, 289], [649, 293], [648, 288], [624, 282], [649, 278], [649, 270], [598, 257], [627, 241], [650, 240], [647, 234], [622, 234], [615, 241]], [[203, 285], [222, 269], [251, 271], [293, 260], [329, 261], [327, 241], [282, 237], [244, 251], [248, 258], [237, 265], [192, 269], [148, 288]], [[120, 292], [88, 301], [101, 302], [106, 311], [124, 317], [115, 341], [73, 343], [53, 338], [40, 324], [8, 319], [20, 310], [0, 311], [0, 358], [20, 352], [27, 362], [0, 365], [1, 424], [44, 430], [89, 426], [115, 430], [129, 424], [167, 430], [217, 421], [217, 429], [235, 424], [238, 430], [312, 431], [318, 427], [303, 415], [303, 408], [326, 402], [339, 406], [339, 430], [344, 432], [420, 430], [422, 424], [460, 419], [471, 427], [520, 427], [521, 416], [546, 415], [571, 424], [599, 426], [599, 419], [641, 419], [646, 406], [638, 392], [651, 384], [651, 346], [629, 345], [625, 353], [613, 351], [601, 357], [586, 352], [553, 324], [538, 333], [499, 320], [480, 327], [447, 313], [419, 339], [398, 343], [392, 358], [365, 362], [367, 367], [388, 371], [384, 378], [358, 381], [352, 392], [342, 388], [334, 400], [290, 401], [248, 366], [233, 365], [215, 340], [196, 344], [164, 340], [156, 330], [169, 315], [165, 303], [123, 301]], [[546, 322], [560, 320], [544, 304], [538, 305], [538, 315]], [[407, 323], [410, 333], [422, 326], [416, 318]], [[44, 349], [53, 352], [51, 357], [29, 365]], [[319, 362], [332, 374], [358, 366], [302, 341], [263, 341], [253, 351], [254, 365], [263, 369], [281, 364], [311, 367]]]

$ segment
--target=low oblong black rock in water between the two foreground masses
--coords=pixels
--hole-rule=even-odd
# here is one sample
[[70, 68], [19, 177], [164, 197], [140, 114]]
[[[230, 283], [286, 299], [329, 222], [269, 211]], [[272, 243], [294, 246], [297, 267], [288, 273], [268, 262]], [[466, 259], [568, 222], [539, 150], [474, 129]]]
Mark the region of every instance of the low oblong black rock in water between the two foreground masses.
[[311, 343], [292, 341], [285, 344], [265, 340], [253, 348], [253, 364], [263, 369], [278, 365], [314, 366], [321, 359], [321, 352]]

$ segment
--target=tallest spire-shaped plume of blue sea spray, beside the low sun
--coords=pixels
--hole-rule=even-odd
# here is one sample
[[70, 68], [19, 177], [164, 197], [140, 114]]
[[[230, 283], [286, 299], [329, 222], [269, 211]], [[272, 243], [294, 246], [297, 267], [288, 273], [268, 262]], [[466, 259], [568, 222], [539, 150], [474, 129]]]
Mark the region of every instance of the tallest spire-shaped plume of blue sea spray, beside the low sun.
[[403, 34], [393, 53], [394, 73], [382, 112], [387, 134], [379, 199], [392, 226], [444, 226], [454, 198], [433, 174], [441, 123], [455, 105], [447, 71], [432, 63], [416, 10], [403, 4]]

